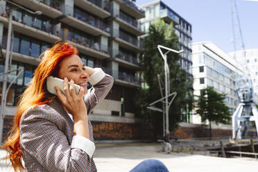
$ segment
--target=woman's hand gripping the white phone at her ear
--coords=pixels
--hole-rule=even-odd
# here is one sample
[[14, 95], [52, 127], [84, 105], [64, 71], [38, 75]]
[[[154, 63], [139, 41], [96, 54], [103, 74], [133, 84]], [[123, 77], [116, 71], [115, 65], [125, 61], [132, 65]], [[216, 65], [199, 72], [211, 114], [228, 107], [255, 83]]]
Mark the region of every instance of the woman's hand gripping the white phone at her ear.
[[69, 83], [68, 79], [65, 77], [65, 95], [62, 94], [61, 89], [59, 87], [55, 87], [55, 91], [62, 105], [64, 105], [66, 110], [73, 116], [74, 122], [87, 119], [87, 107], [83, 101], [83, 87], [80, 87], [80, 92], [77, 95], [74, 89], [74, 80], [71, 80]]

